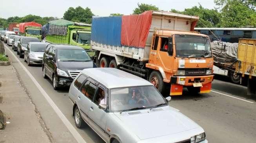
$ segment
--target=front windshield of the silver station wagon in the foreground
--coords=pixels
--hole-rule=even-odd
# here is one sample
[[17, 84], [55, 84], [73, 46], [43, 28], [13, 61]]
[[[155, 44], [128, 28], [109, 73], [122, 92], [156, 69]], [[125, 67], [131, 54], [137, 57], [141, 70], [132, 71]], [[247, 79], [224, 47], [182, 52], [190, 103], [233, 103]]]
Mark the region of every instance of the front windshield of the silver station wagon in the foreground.
[[113, 112], [149, 108], [158, 104], [166, 102], [154, 86], [115, 88], [110, 91], [110, 109]]

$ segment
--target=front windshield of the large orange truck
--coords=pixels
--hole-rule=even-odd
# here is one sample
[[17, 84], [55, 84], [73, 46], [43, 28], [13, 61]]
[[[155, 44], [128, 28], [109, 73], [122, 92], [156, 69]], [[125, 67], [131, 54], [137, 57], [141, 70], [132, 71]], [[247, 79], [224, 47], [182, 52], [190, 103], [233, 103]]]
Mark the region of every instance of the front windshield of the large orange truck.
[[207, 37], [176, 34], [175, 43], [177, 57], [212, 57]]

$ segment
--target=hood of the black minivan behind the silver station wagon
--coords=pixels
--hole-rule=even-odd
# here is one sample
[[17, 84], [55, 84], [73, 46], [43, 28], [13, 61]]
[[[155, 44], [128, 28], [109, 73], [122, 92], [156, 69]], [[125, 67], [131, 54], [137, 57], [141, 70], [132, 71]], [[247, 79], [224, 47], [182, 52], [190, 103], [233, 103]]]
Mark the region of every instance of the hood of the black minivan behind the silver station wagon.
[[84, 70], [85, 68], [93, 68], [93, 61], [88, 61], [88, 62], [58, 61], [58, 68], [64, 71]]

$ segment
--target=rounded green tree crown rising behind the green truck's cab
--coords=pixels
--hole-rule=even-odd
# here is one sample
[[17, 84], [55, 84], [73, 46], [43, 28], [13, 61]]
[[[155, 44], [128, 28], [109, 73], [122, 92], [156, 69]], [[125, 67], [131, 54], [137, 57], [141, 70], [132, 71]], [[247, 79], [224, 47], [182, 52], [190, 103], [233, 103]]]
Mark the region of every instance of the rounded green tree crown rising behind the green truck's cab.
[[84, 9], [83, 7], [78, 6], [76, 8], [69, 7], [69, 9], [67, 9], [67, 11], [64, 13], [63, 18], [69, 21], [91, 24], [93, 15], [94, 14], [91, 12], [89, 7]]

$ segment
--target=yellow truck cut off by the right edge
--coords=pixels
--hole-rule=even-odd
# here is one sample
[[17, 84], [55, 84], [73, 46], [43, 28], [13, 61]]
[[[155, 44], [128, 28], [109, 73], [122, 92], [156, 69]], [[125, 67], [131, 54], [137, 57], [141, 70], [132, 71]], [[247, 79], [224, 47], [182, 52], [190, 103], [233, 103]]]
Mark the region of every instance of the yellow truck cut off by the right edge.
[[247, 95], [256, 95], [256, 39], [239, 39], [236, 73], [248, 78]]

